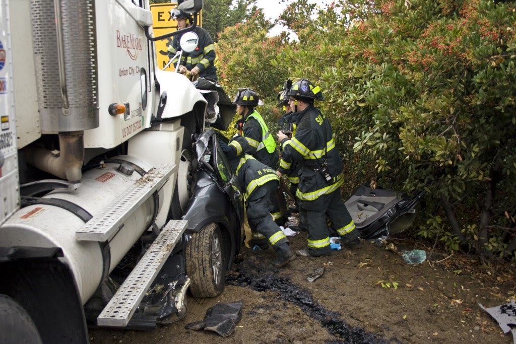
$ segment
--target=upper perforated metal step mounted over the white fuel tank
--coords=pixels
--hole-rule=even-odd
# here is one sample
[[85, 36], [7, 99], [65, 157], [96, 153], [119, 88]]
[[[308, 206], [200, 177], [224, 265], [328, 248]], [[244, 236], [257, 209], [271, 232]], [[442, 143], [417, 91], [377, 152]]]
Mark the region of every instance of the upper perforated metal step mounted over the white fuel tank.
[[75, 232], [75, 239], [102, 242], [111, 240], [132, 212], [147, 201], [154, 191], [159, 190], [176, 170], [176, 165], [168, 163], [151, 169], [113, 200], [103, 212], [80, 227]]

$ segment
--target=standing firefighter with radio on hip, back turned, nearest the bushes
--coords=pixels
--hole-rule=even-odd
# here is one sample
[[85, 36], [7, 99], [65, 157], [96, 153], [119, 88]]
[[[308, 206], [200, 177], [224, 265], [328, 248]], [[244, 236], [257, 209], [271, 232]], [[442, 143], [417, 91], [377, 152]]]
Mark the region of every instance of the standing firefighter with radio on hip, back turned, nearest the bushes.
[[298, 250], [296, 254], [306, 257], [331, 254], [326, 217], [341, 236], [343, 246], [356, 246], [360, 244], [359, 232], [340, 193], [344, 181], [342, 159], [328, 118], [314, 106], [314, 100], [324, 100], [322, 92], [309, 80], [299, 79], [286, 95], [290, 104], [297, 101], [296, 134], [289, 139], [280, 130], [277, 136], [282, 158], [300, 163], [296, 194], [299, 207], [306, 212], [308, 227], [308, 249]]

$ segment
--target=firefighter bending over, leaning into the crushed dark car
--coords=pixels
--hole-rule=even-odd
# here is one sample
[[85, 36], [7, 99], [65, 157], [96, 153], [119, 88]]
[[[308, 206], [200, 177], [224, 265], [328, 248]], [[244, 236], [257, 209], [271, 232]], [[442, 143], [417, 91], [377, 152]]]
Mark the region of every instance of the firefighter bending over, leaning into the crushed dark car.
[[278, 257], [272, 261], [273, 267], [283, 267], [296, 259], [296, 254], [289, 247], [290, 242], [272, 220], [271, 195], [278, 189], [279, 177], [276, 171], [247, 154], [249, 144], [243, 136], [234, 137], [229, 144], [220, 142], [222, 150], [230, 159], [235, 175], [243, 188], [244, 204], [251, 227], [253, 239], [265, 238]]

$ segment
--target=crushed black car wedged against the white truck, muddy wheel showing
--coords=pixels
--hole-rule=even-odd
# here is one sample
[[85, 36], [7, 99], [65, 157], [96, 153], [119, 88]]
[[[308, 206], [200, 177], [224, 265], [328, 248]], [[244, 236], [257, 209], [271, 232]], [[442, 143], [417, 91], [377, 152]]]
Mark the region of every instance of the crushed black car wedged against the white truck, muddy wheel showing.
[[183, 220], [186, 233], [186, 273], [194, 297], [217, 296], [244, 240], [243, 195], [219, 140], [228, 138], [208, 129], [195, 138], [191, 198]]

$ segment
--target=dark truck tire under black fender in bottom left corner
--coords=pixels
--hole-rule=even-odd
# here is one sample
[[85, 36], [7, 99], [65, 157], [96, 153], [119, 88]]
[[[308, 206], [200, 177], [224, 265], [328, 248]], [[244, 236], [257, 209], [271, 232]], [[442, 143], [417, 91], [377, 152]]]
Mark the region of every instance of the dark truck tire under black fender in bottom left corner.
[[0, 294], [0, 343], [41, 343], [36, 324], [23, 307]]

